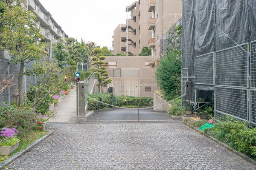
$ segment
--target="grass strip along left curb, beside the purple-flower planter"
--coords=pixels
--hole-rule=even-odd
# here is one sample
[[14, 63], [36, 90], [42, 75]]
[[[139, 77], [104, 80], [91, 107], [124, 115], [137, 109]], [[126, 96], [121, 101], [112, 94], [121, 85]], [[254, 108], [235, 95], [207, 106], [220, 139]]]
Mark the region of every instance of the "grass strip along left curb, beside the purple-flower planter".
[[0, 162], [3, 162], [11, 158], [16, 153], [19, 153], [22, 150], [25, 150], [30, 144], [42, 138], [44, 135], [49, 133], [49, 131], [32, 131], [26, 138], [20, 141], [19, 147], [9, 156], [0, 156]]

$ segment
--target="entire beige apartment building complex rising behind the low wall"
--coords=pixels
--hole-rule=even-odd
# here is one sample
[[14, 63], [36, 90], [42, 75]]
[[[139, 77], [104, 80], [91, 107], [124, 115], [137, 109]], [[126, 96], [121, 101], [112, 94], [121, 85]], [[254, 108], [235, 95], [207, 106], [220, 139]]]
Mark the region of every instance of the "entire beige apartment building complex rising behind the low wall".
[[126, 11], [131, 11], [131, 19], [114, 30], [114, 54], [136, 56], [147, 46], [151, 56], [160, 57], [160, 38], [180, 19], [182, 0], [139, 0], [127, 6]]

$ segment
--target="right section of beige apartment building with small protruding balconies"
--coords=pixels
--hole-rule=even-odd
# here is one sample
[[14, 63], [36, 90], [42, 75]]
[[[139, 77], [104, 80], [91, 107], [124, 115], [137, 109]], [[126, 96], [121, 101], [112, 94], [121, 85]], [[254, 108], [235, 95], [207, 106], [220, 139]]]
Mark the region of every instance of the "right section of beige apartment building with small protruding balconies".
[[160, 38], [180, 19], [182, 0], [150, 0], [148, 13], [151, 14], [148, 21], [148, 30], [151, 31], [148, 47], [151, 48], [151, 56], [160, 56]]

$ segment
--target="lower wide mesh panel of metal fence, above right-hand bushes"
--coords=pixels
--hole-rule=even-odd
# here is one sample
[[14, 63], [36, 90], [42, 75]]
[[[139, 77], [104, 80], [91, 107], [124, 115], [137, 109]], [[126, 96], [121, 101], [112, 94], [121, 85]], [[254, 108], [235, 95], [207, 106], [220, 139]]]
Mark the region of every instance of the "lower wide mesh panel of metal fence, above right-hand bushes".
[[215, 86], [215, 112], [247, 120], [247, 89]]

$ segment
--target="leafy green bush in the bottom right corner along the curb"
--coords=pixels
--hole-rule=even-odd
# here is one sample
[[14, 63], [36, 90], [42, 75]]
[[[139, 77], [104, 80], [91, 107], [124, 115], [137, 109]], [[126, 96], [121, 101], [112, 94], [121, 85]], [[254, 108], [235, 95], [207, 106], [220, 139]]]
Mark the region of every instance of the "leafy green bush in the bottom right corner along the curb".
[[256, 159], [256, 128], [248, 128], [247, 123], [233, 120], [216, 122], [214, 128], [204, 132]]

